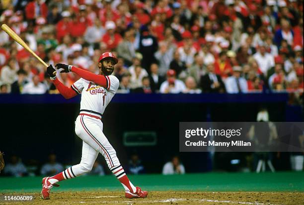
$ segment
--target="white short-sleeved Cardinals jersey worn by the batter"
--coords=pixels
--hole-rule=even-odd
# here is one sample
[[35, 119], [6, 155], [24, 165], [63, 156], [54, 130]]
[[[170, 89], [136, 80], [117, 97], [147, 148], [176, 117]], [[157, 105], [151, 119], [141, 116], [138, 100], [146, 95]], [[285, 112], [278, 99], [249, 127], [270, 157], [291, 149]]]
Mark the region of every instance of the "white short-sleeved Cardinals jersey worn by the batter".
[[107, 88], [82, 78], [72, 85], [72, 89], [81, 94], [80, 112], [88, 114], [96, 112], [96, 116], [103, 114], [119, 87], [119, 80], [115, 76], [105, 77], [107, 79]]

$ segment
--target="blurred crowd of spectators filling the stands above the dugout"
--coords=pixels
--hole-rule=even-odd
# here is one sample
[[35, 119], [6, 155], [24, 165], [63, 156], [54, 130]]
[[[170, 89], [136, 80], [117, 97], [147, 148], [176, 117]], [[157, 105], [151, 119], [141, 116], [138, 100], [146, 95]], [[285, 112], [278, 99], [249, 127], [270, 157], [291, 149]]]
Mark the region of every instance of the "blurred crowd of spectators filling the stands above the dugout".
[[[118, 57], [119, 93], [303, 95], [301, 0], [8, 0], [10, 26], [45, 62], [98, 73]], [[67, 86], [78, 76], [57, 74]], [[0, 93], [56, 94], [45, 68], [0, 31]]]

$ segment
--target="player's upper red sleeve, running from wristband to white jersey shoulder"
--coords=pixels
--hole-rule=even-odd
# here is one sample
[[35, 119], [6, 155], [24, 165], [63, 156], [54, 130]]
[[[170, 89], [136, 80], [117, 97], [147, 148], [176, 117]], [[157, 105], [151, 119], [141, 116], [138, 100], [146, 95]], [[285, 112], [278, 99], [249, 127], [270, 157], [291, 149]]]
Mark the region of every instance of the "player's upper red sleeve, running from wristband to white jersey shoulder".
[[97, 84], [99, 86], [102, 86], [104, 88], [108, 87], [108, 80], [103, 75], [96, 75], [96, 74], [91, 73], [89, 71], [86, 71], [86, 70], [83, 70], [83, 69], [80, 69], [80, 68], [76, 68], [75, 66], [72, 66], [71, 71], [76, 73], [78, 76], [80, 76], [81, 78], [83, 78], [87, 81], [94, 82], [95, 84]]

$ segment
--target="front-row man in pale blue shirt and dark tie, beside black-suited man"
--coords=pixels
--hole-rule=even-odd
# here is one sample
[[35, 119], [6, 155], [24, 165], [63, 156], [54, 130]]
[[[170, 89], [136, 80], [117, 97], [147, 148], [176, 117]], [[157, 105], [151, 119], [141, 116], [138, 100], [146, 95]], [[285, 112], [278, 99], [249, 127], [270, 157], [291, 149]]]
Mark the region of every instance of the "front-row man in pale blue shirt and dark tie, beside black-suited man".
[[247, 93], [247, 81], [241, 77], [242, 67], [233, 66], [233, 75], [228, 77], [225, 81], [226, 91], [230, 94]]

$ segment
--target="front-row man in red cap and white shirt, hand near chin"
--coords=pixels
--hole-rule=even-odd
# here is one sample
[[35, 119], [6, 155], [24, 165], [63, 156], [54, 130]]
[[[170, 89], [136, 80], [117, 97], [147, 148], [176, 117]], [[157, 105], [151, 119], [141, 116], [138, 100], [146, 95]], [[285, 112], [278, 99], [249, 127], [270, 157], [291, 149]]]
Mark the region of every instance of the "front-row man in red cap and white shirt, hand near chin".
[[160, 86], [160, 93], [163, 94], [178, 94], [186, 90], [185, 84], [176, 79], [176, 72], [172, 69], [167, 71], [167, 80]]

